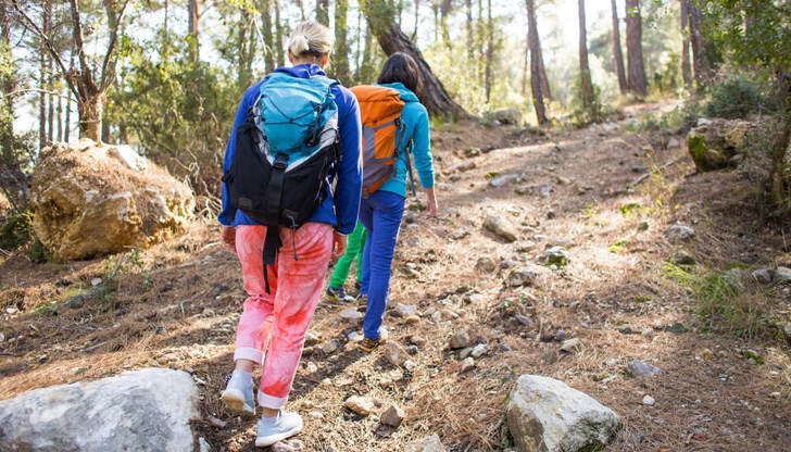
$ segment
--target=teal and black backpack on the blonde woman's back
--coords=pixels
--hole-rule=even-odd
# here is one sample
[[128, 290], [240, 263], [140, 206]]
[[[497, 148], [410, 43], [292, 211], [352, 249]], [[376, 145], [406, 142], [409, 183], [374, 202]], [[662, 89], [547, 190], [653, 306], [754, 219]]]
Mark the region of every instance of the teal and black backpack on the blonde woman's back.
[[[329, 191], [327, 176], [339, 155], [338, 105], [331, 92], [338, 81], [273, 73], [261, 86], [247, 121], [237, 130], [236, 154], [223, 176], [230, 202], [266, 225], [266, 265], [273, 265], [279, 227], [297, 230]], [[294, 246], [294, 261], [298, 260]]]

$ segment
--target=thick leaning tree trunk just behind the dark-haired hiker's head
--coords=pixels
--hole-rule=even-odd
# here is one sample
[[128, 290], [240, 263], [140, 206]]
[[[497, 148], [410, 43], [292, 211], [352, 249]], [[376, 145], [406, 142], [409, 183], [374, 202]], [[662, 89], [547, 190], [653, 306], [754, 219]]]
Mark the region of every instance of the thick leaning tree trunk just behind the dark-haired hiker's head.
[[423, 89], [420, 89], [418, 96], [429, 113], [445, 118], [469, 117], [469, 114], [451, 99], [442, 83], [431, 72], [431, 67], [423, 58], [420, 51], [395, 24], [392, 10], [387, 7], [385, 0], [365, 1], [363, 12], [386, 54], [404, 52], [417, 62], [423, 79]]

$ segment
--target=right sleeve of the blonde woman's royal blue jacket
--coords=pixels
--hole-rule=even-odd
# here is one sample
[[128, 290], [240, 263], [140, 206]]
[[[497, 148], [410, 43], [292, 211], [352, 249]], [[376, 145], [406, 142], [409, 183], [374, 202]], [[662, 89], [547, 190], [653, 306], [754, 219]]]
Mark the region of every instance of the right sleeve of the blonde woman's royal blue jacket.
[[351, 91], [340, 88], [338, 100], [341, 159], [338, 163], [338, 183], [335, 190], [336, 231], [349, 235], [357, 224], [360, 192], [363, 187], [362, 124], [360, 105]]

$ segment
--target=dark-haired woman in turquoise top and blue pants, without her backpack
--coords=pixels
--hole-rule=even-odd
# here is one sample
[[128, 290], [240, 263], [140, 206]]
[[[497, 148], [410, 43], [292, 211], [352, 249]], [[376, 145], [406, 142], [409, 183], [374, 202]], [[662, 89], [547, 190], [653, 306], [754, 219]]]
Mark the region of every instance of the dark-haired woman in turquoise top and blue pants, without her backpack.
[[414, 168], [426, 192], [426, 214], [434, 217], [438, 212], [428, 112], [415, 95], [420, 86], [417, 63], [405, 53], [393, 53], [385, 62], [378, 85], [398, 90], [401, 100], [405, 102], [401, 113], [404, 136], [397, 140], [401, 146], [392, 177], [360, 203], [360, 221], [368, 231], [363, 251], [363, 286], [360, 290], [360, 310], [365, 310], [364, 339], [360, 348], [366, 352], [373, 351], [380, 343], [379, 328], [390, 290], [390, 266], [406, 200], [410, 147]]

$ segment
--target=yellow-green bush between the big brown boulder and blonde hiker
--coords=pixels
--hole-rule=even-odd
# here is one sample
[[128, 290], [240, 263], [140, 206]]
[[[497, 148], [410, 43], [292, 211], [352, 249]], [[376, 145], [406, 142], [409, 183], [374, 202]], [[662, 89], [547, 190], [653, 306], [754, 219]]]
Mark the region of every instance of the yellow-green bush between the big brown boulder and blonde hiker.
[[185, 42], [175, 56], [151, 60], [146, 46], [127, 42], [121, 87], [106, 115], [118, 139], [187, 178], [198, 194], [219, 192], [222, 149], [241, 99], [234, 80], [208, 63], [192, 63]]

